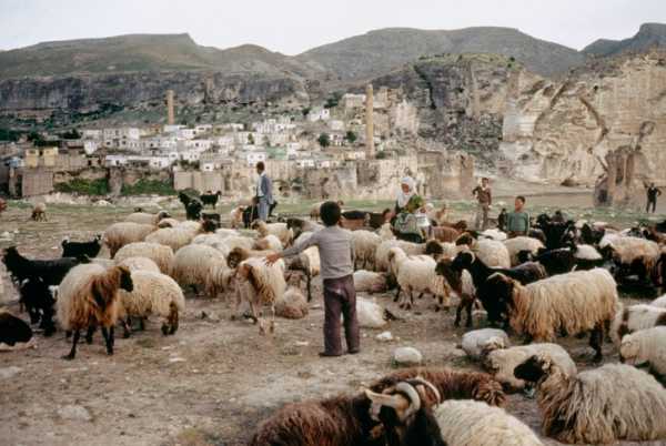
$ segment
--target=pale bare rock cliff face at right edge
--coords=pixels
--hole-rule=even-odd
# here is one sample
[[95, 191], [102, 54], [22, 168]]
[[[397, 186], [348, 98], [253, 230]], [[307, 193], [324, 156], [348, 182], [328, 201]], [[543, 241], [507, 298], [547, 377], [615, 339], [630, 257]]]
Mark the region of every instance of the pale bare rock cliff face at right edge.
[[666, 169], [666, 54], [596, 62], [562, 82], [513, 85], [502, 152], [523, 178], [594, 184], [612, 153], [632, 153], [637, 183]]

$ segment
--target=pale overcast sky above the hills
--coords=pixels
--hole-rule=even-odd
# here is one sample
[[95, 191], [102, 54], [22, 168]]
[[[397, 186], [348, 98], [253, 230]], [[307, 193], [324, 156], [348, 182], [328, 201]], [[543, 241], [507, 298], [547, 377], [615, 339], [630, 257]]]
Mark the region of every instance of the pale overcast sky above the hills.
[[582, 49], [666, 22], [666, 0], [0, 0], [0, 49], [129, 33], [188, 32], [199, 44], [285, 54], [379, 28], [517, 28]]

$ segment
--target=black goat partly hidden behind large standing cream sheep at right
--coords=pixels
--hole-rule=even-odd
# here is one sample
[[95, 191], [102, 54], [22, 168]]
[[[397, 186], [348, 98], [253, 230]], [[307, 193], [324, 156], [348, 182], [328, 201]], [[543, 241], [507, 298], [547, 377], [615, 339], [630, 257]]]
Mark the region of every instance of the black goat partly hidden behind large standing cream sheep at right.
[[[488, 313], [488, 322], [496, 324], [504, 321], [506, 308], [496, 298], [496, 290], [488, 283], [488, 277], [502, 273], [526, 285], [546, 277], [545, 268], [538, 263], [528, 262], [512, 268], [492, 268], [470, 252], [460, 253], [452, 262], [454, 271], [467, 270], [476, 287], [476, 297]], [[470, 321], [471, 308], [467, 312]], [[467, 322], [468, 324], [470, 322]]]

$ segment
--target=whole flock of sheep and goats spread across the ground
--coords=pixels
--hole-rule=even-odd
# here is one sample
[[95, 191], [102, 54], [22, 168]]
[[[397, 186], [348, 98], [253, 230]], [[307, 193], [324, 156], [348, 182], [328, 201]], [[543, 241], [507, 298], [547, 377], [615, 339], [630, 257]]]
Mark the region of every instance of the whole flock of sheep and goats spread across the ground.
[[[57, 326], [72, 337], [64, 357], [75, 357], [84, 332], [101, 328], [113, 354], [114, 328], [124, 336], [161, 317], [162, 333], [179, 327], [186, 301], [198, 295], [233, 296], [234, 315], [275, 330], [275, 317], [302, 318], [320, 268], [316, 247], [264, 262], [265, 255], [311, 236], [322, 226], [316, 206], [310, 220], [253, 222], [254, 236], [220, 219], [178, 221], [167, 212], [134, 212], [90, 242], [62, 242], [61, 259], [30, 260], [16, 247], [3, 262], [20, 291], [32, 324], [46, 336]], [[209, 214], [210, 215], [210, 214]], [[190, 215], [191, 217], [198, 217]], [[377, 214], [352, 211], [357, 292], [393, 292], [408, 312], [433, 297], [434, 311], [457, 302], [455, 325], [476, 307], [495, 327], [468, 331], [462, 348], [488, 373], [445, 367], [407, 368], [363, 392], [289, 404], [262, 423], [251, 445], [541, 445], [529, 427], [501, 407], [505, 392], [536, 388], [543, 434], [564, 443], [606, 444], [619, 439], [666, 439], [666, 296], [625, 306], [618, 285], [662, 287], [666, 278], [664, 224], [619, 231], [603, 223], [539, 215], [529, 234], [507, 239], [496, 229], [476, 232], [464, 221], [447, 222], [431, 207], [434, 229], [426, 243], [397, 240]], [[111, 259], [98, 257], [107, 245]], [[301, 287], [302, 280], [306, 286]], [[359, 298], [361, 326], [391, 315]], [[56, 321], [53, 321], [56, 320]], [[511, 345], [511, 335], [516, 345]], [[625, 364], [577, 372], [556, 342], [589, 335], [603, 357], [609, 339]], [[29, 342], [32, 331], [0, 312], [0, 346]], [[647, 372], [635, 366], [646, 365]]]

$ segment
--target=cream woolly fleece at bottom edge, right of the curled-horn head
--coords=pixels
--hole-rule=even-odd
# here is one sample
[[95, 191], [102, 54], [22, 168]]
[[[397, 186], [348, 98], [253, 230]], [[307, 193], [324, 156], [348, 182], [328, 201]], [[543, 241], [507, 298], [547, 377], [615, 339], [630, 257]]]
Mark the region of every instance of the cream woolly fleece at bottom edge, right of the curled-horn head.
[[539, 446], [523, 422], [482, 402], [448, 399], [434, 410], [442, 439], [454, 446]]

